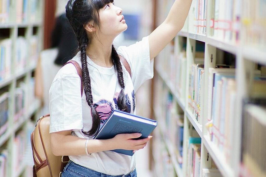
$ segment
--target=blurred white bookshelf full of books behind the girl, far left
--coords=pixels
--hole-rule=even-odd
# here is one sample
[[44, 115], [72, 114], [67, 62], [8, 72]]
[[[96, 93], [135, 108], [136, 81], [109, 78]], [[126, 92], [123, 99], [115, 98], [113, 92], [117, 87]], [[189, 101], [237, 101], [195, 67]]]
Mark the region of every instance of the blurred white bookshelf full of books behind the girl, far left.
[[0, 174], [31, 176], [25, 153], [41, 107], [33, 75], [43, 48], [44, 1], [1, 0], [0, 7]]

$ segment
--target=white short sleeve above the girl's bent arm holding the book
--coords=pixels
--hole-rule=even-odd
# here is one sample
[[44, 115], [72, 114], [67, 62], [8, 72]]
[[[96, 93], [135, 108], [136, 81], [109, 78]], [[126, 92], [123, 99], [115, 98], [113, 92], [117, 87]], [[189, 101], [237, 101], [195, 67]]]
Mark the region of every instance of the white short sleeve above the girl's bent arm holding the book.
[[63, 66], [49, 90], [50, 133], [82, 129], [81, 80], [72, 64]]

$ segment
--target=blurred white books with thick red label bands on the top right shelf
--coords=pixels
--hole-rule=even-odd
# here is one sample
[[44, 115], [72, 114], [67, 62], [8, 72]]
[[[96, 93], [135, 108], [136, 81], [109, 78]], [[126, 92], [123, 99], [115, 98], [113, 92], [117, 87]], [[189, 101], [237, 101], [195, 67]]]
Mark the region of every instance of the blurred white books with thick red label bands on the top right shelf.
[[240, 0], [214, 0], [211, 2], [210, 30], [213, 37], [238, 42], [240, 30]]

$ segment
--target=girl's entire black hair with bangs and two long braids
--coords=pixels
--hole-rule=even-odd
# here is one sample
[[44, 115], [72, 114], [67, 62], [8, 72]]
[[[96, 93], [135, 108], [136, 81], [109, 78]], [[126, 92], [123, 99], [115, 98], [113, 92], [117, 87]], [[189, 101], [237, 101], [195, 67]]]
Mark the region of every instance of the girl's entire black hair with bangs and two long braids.
[[[82, 63], [82, 83], [84, 85], [84, 92], [86, 95], [86, 101], [91, 107], [92, 114], [92, 128], [89, 131], [84, 131], [82, 133], [86, 136], [95, 136], [100, 128], [100, 116], [93, 106], [93, 97], [91, 93], [91, 78], [87, 65], [87, 54], [86, 48], [91, 42], [92, 36], [87, 34], [84, 25], [89, 23], [91, 20], [94, 21], [94, 25], [100, 25], [99, 10], [103, 8], [106, 4], [113, 2], [113, 0], [69, 0], [66, 5], [66, 15], [72, 26], [74, 33], [76, 34], [79, 50], [81, 52], [81, 63]], [[122, 65], [120, 58], [112, 45], [112, 61], [114, 63], [114, 68], [118, 76], [119, 85], [121, 86], [121, 91], [118, 96], [118, 108], [121, 111], [128, 112], [128, 107], [126, 105], [126, 98], [124, 94], [124, 77]]]

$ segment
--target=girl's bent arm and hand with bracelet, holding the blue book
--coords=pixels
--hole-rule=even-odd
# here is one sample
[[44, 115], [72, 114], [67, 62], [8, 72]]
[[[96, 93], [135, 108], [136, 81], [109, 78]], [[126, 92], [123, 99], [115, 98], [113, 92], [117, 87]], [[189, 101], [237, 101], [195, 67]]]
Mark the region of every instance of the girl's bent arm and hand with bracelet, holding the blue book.
[[[90, 139], [88, 141], [87, 150], [89, 153], [108, 151], [114, 149], [139, 150], [143, 149], [147, 142], [152, 138], [135, 140], [141, 134], [118, 134], [114, 138], [98, 140]], [[85, 152], [86, 139], [71, 135], [71, 131], [61, 131], [50, 134], [50, 144], [52, 152], [55, 156], [80, 156], [86, 155]]]

